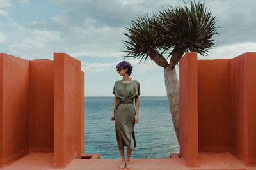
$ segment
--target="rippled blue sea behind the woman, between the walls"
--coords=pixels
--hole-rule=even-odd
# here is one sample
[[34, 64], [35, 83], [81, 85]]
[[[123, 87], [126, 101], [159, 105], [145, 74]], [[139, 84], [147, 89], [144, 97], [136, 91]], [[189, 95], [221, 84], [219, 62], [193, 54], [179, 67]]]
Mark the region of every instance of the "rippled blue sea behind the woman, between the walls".
[[[115, 123], [110, 120], [112, 110], [113, 97], [85, 97], [85, 153], [120, 159]], [[131, 159], [168, 158], [170, 153], [179, 152], [167, 97], [141, 96], [139, 119]]]

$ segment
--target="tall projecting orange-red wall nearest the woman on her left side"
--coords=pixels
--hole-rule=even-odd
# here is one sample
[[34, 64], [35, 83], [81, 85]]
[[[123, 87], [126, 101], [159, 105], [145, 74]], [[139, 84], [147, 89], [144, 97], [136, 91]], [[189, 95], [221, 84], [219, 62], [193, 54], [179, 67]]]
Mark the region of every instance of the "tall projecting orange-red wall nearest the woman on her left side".
[[54, 167], [81, 158], [81, 82], [81, 62], [54, 53]]

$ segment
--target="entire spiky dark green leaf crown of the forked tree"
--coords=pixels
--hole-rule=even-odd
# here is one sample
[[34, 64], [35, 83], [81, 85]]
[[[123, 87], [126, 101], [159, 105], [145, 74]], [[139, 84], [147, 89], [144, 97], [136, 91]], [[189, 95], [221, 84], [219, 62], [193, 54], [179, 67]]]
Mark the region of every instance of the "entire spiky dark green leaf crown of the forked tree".
[[208, 53], [215, 46], [216, 17], [205, 8], [205, 3], [195, 0], [190, 5], [165, 8], [159, 13], [143, 15], [131, 21], [124, 35], [125, 57], [147, 60], [152, 50], [172, 55], [170, 50], [179, 48], [185, 52]]

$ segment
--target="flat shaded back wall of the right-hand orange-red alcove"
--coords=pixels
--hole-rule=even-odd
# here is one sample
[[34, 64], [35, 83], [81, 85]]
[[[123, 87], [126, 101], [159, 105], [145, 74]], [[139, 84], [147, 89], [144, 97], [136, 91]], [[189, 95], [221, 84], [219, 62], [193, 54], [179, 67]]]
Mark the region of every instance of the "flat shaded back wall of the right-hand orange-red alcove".
[[230, 59], [198, 60], [198, 150], [230, 147]]

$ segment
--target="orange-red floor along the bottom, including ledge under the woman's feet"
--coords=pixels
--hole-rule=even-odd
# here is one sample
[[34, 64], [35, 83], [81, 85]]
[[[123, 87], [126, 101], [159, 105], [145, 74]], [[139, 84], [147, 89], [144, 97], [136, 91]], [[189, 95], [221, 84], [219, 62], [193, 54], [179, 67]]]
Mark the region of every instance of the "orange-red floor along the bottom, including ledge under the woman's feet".
[[[256, 170], [256, 167], [246, 167], [230, 153], [200, 153], [197, 168], [188, 168], [185, 166], [184, 159], [131, 159], [132, 170], [182, 170], [182, 169], [236, 169], [236, 170]], [[21, 159], [13, 162], [3, 170], [47, 170], [56, 169], [52, 167], [53, 153], [29, 153]], [[120, 159], [74, 159], [65, 169], [119, 169]], [[126, 169], [126, 168], [125, 168]]]

